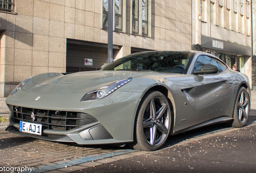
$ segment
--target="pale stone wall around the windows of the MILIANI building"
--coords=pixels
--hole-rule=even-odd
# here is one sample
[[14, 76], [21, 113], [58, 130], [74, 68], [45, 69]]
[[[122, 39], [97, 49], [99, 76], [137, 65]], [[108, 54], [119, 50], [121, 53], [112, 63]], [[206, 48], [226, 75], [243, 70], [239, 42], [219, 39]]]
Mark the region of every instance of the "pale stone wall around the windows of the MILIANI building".
[[[251, 15], [250, 8], [246, 8], [246, 0], [205, 0], [205, 16], [204, 20], [199, 20], [200, 14], [200, 0], [192, 0], [192, 11], [193, 11], [193, 40], [192, 44], [201, 44], [201, 35], [225, 40], [244, 46], [252, 47], [252, 31], [251, 27]], [[214, 2], [214, 22], [210, 22], [210, 2]], [[219, 23], [219, 5], [222, 7], [222, 22]], [[229, 28], [226, 28], [227, 18], [226, 10], [229, 9]], [[235, 9], [234, 9], [235, 8]], [[235, 19], [235, 28], [233, 28], [232, 15], [234, 11], [237, 12]], [[243, 15], [242, 18], [242, 31], [239, 29], [239, 16]], [[249, 18], [248, 26], [246, 26], [246, 17]], [[254, 24], [255, 25], [255, 24]], [[218, 51], [218, 50], [216, 50]], [[225, 51], [225, 50], [224, 50]], [[227, 52], [232, 53], [232, 52]], [[252, 60], [250, 57], [245, 58], [245, 74], [249, 77], [250, 85], [252, 87]]]

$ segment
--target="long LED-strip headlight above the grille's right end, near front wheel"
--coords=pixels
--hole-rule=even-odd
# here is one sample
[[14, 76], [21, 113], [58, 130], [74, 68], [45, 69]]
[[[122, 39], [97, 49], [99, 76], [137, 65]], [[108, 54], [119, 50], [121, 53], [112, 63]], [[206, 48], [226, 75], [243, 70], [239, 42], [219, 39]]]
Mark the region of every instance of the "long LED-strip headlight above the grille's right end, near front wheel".
[[92, 100], [97, 100], [97, 99], [102, 99], [106, 97], [107, 95], [113, 93], [120, 87], [122, 87], [124, 84], [130, 82], [132, 78], [126, 78], [124, 80], [119, 80], [110, 84], [107, 84], [104, 87], [101, 87], [100, 89], [94, 90], [90, 93], [87, 93], [81, 101], [92, 101]]

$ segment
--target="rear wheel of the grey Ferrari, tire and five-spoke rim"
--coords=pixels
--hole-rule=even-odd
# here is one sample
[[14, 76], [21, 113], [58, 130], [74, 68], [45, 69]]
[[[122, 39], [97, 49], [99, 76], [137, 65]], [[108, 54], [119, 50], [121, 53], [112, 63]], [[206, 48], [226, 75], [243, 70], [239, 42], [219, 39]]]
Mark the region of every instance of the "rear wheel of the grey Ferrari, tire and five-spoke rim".
[[235, 101], [232, 127], [244, 127], [248, 121], [250, 97], [244, 87], [240, 87]]

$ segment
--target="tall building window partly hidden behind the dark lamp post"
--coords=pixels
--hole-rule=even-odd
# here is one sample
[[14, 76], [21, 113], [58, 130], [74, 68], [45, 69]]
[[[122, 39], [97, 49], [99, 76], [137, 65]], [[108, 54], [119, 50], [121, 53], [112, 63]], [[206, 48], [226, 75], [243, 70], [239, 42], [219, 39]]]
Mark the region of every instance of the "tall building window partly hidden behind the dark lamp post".
[[[124, 28], [124, 1], [125, 0], [114, 0], [113, 16], [115, 31], [123, 31]], [[102, 28], [108, 28], [108, 0], [103, 0]]]

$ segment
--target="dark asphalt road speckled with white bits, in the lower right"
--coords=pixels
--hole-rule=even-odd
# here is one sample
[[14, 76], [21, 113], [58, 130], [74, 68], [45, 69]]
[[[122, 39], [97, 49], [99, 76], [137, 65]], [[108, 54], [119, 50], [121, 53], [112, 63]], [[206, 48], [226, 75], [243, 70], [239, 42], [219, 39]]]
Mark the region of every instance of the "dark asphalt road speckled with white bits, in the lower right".
[[253, 173], [255, 158], [256, 124], [75, 173]]

